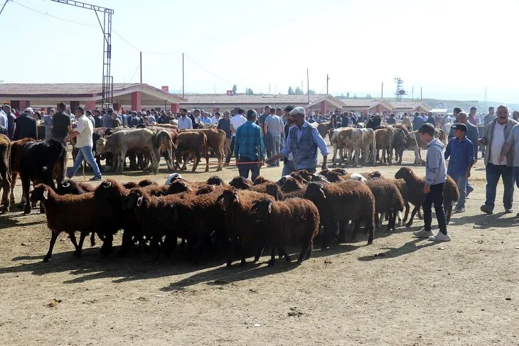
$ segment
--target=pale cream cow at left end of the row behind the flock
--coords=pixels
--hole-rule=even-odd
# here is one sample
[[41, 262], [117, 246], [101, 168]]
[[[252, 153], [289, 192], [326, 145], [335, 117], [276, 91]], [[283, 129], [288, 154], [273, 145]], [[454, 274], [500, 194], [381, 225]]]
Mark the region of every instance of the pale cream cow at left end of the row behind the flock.
[[96, 155], [113, 153], [116, 158], [117, 172], [122, 173], [127, 153], [148, 151], [151, 156], [151, 171], [159, 172], [159, 149], [156, 148], [155, 131], [151, 129], [124, 129], [97, 141]]

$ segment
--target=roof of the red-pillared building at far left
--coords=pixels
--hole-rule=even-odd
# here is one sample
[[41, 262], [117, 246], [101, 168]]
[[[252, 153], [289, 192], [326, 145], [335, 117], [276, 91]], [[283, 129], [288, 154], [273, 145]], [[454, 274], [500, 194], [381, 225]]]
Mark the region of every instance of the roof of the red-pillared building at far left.
[[[175, 94], [170, 94], [146, 83], [114, 83], [114, 96], [127, 94], [134, 91], [151, 92], [157, 96], [162, 94], [166, 99], [182, 99]], [[92, 97], [100, 98], [102, 95], [101, 83], [4, 83], [0, 84], [0, 97]], [[177, 101], [178, 102], [178, 101]]]

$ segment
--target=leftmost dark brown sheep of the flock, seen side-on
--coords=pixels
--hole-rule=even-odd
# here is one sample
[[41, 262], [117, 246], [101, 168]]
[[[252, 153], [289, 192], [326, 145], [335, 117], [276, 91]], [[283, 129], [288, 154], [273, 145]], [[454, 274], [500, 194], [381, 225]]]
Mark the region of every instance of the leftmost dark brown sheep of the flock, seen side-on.
[[[80, 257], [82, 244], [88, 233], [114, 234], [119, 229], [114, 222], [116, 215], [112, 208], [102, 200], [95, 200], [94, 193], [61, 196], [48, 185], [38, 184], [29, 200], [43, 204], [47, 225], [52, 232], [48, 252], [43, 257], [44, 262], [49, 261], [52, 256], [54, 244], [61, 232], [68, 233], [75, 247], [74, 255]], [[74, 232], [81, 233], [79, 244]]]

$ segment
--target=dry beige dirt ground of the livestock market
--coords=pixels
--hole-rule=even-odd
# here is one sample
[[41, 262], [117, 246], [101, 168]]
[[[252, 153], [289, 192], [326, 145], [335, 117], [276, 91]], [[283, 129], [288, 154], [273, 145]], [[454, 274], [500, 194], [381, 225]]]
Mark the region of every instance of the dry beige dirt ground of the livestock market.
[[[277, 180], [281, 170], [261, 174]], [[205, 180], [214, 171], [183, 175]], [[382, 227], [370, 246], [317, 245], [301, 266], [269, 268], [267, 256], [244, 268], [225, 269], [224, 256], [193, 266], [181, 251], [158, 263], [144, 253], [105, 258], [99, 240], [77, 259], [65, 234], [42, 263], [45, 216], [14, 209], [0, 216], [0, 345], [519, 345], [519, 221], [503, 213], [501, 185], [496, 214], [481, 214], [484, 173], [480, 160], [466, 212], [449, 225], [452, 242], [414, 238], [423, 226], [415, 218], [410, 229]], [[163, 160], [157, 175], [105, 178], [167, 175]], [[218, 175], [228, 181], [237, 168]]]

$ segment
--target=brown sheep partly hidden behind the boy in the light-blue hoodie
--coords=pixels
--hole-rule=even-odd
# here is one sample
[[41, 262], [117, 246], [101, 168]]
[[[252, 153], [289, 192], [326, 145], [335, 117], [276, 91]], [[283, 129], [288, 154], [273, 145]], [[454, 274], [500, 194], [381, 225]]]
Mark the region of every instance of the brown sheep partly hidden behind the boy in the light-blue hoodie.
[[[425, 179], [420, 178], [418, 175], [414, 174], [414, 171], [412, 171], [412, 169], [409, 167], [400, 168], [397, 173], [395, 173], [395, 178], [404, 179], [409, 188], [409, 202], [414, 205], [414, 209], [411, 212], [411, 217], [409, 222], [407, 222], [406, 227], [411, 227], [414, 215], [419, 211], [419, 207], [422, 206], [422, 202], [424, 202]], [[444, 207], [447, 225], [449, 225], [451, 220], [452, 204], [456, 202], [458, 198], [459, 191], [456, 187], [456, 182], [449, 175], [447, 175], [444, 185]]]

